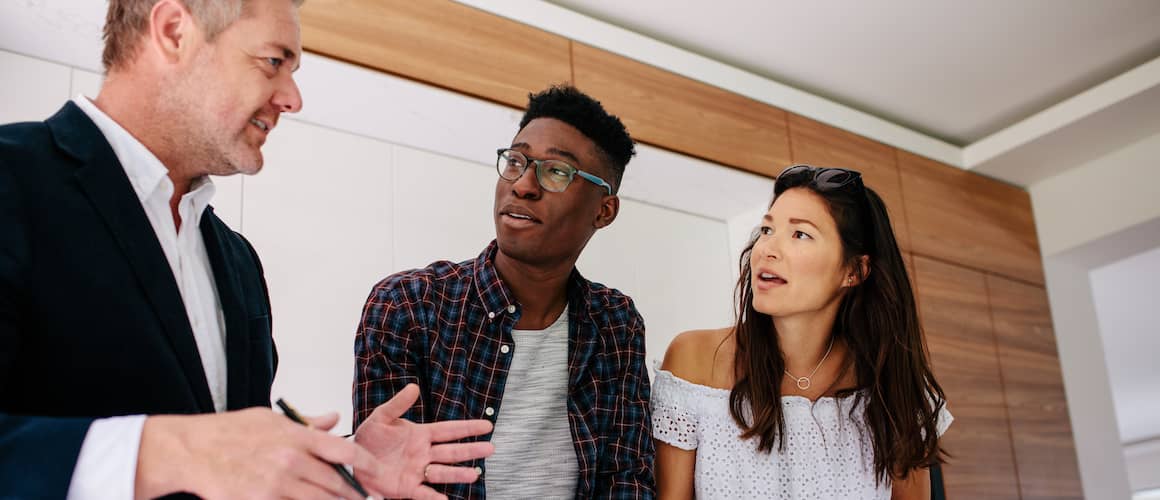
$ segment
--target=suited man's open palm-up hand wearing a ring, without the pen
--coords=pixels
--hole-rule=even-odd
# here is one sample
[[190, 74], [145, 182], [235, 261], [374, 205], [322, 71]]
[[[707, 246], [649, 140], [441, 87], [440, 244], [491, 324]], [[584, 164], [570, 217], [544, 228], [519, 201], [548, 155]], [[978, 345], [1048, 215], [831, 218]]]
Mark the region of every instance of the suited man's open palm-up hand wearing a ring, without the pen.
[[383, 464], [383, 472], [356, 471], [356, 477], [363, 485], [387, 498], [445, 500], [447, 497], [423, 483], [472, 483], [479, 479], [473, 468], [448, 464], [484, 458], [495, 450], [488, 442], [447, 442], [487, 434], [492, 430], [492, 422], [457, 420], [414, 423], [400, 418], [416, 399], [419, 386], [408, 384], [390, 401], [375, 408], [358, 426], [355, 442], [375, 454]]

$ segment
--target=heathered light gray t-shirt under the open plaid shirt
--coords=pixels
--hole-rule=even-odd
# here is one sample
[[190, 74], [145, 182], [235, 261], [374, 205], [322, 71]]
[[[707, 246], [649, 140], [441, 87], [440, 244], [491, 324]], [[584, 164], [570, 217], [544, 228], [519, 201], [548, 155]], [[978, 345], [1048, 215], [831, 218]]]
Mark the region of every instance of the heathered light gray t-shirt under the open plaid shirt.
[[495, 454], [485, 462], [488, 499], [571, 499], [580, 465], [568, 425], [568, 310], [546, 329], [513, 329]]

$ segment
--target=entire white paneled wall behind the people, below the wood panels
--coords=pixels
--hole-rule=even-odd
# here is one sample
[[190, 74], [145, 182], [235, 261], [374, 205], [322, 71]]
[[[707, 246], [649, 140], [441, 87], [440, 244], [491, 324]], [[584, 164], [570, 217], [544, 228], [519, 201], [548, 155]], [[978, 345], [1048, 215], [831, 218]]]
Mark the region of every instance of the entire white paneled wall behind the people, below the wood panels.
[[[339, 411], [345, 430], [367, 294], [391, 273], [471, 259], [492, 240], [494, 151], [510, 143], [520, 113], [312, 55], [297, 79], [304, 111], [270, 136], [259, 175], [215, 177], [213, 205], [266, 266], [281, 357], [275, 397]], [[0, 51], [0, 122], [43, 119], [71, 95], [95, 96], [100, 81]], [[651, 363], [681, 331], [732, 320], [734, 240], [749, 224], [741, 213], [760, 217], [771, 182], [638, 151], [619, 217], [578, 267], [633, 297]]]

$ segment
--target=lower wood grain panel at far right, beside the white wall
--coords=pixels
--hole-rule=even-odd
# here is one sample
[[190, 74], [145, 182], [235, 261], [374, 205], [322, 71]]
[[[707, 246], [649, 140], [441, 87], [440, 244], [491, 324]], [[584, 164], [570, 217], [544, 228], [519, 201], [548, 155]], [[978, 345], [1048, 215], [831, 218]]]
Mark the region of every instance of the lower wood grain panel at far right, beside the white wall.
[[1081, 499], [1047, 294], [996, 276], [987, 291], [1023, 500]]

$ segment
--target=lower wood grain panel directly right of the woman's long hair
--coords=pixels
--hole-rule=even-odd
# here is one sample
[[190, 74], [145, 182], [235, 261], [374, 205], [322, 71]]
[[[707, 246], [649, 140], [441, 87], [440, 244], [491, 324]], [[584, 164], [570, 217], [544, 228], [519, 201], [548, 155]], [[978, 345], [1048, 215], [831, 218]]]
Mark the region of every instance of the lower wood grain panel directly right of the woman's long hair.
[[914, 256], [935, 377], [955, 423], [943, 435], [947, 498], [1018, 499], [1003, 387], [981, 273]]

